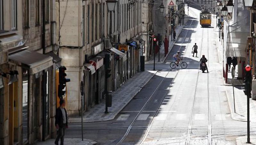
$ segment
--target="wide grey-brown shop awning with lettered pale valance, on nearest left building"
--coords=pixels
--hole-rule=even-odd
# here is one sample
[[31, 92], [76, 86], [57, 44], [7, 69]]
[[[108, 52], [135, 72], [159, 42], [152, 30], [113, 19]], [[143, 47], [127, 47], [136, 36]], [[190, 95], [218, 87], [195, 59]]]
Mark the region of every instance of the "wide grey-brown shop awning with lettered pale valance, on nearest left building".
[[30, 69], [31, 74], [41, 72], [52, 66], [52, 57], [35, 51], [23, 50], [9, 55], [9, 59]]

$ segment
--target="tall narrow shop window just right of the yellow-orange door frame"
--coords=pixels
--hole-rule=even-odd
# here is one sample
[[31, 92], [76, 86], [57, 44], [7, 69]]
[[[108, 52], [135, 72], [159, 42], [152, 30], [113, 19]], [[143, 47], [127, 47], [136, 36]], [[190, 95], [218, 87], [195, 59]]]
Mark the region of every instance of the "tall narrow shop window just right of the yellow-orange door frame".
[[22, 135], [23, 142], [28, 140], [28, 70], [22, 70]]

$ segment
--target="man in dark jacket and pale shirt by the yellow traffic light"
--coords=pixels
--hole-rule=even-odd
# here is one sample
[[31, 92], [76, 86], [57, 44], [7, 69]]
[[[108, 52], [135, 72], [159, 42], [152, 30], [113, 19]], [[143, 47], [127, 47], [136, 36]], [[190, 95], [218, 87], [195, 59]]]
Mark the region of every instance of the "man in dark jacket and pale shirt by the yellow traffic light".
[[55, 126], [57, 128], [57, 138], [54, 142], [55, 145], [59, 145], [59, 140], [60, 145], [63, 145], [66, 128], [68, 128], [68, 116], [65, 105], [65, 100], [61, 99], [60, 107], [56, 110]]

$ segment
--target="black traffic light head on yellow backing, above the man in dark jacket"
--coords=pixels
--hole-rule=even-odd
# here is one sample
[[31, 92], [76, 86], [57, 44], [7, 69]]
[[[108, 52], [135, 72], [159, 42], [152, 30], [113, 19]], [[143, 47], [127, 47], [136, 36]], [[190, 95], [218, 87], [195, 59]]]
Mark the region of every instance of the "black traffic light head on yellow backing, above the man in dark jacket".
[[59, 68], [59, 85], [58, 85], [58, 96], [59, 98], [63, 99], [66, 93], [66, 82], [69, 82], [70, 79], [66, 79], [67, 74], [65, 71], [67, 70], [66, 67], [61, 66]]

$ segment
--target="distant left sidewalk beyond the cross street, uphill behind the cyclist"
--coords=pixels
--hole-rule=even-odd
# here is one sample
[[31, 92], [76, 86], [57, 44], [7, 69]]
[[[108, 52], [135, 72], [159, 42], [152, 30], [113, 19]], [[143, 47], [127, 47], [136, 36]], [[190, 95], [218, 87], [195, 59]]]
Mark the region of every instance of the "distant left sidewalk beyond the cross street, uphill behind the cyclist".
[[[187, 23], [188, 19], [189, 19], [189, 16], [186, 15], [184, 17], [184, 24]], [[178, 39], [178, 37], [180, 35], [180, 32], [181, 32], [181, 30], [183, 29], [184, 26], [185, 25], [175, 27], [176, 40]], [[171, 52], [172, 47], [173, 47], [174, 43], [176, 42], [176, 40], [175, 41], [171, 41], [171, 40], [172, 40], [171, 35], [169, 35], [168, 54]], [[168, 56], [168, 54], [164, 57], [164, 42], [162, 42], [162, 45], [161, 45], [161, 48], [160, 48], [160, 61], [159, 62], [156, 61], [155, 63], [156, 64], [162, 64], [164, 62], [164, 60], [166, 59], [166, 57]], [[158, 53], [156, 54], [156, 60], [158, 60]], [[153, 56], [149, 57], [148, 61], [146, 61], [145, 64], [154, 64], [154, 57]]]

